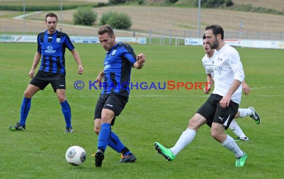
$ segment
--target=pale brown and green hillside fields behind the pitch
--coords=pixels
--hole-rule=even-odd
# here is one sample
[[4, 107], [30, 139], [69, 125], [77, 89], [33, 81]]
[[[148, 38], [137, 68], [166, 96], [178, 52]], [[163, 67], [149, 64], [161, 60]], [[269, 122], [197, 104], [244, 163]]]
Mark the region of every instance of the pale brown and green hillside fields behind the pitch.
[[[36, 1], [25, 0], [26, 5], [48, 5], [56, 4], [60, 6], [59, 0]], [[79, 6], [84, 3], [106, 3], [108, 0], [64, 0], [63, 6], [76, 4]], [[22, 0], [0, 0], [1, 4], [18, 4], [22, 5]], [[40, 2], [40, 3], [39, 3]], [[149, 30], [152, 33], [159, 33], [168, 35], [171, 33], [175, 36], [194, 36], [193, 32], [198, 28], [198, 9], [193, 6], [194, 0], [178, 0], [171, 6], [165, 6], [165, 0], [144, 0], [142, 5], [138, 3], [115, 5], [115, 6], [100, 6], [94, 7], [93, 10], [98, 14], [98, 19], [104, 12], [115, 11], [124, 12], [131, 16], [133, 25], [128, 33], [119, 32], [122, 36], [132, 36], [133, 31], [136, 32], [136, 36], [145, 36], [149, 34]], [[200, 29], [204, 29], [209, 24], [220, 24], [223, 26], [226, 32], [238, 33], [239, 24], [243, 24], [244, 38], [257, 38], [266, 33], [266, 36], [272, 37], [276, 34], [276, 39], [283, 33], [283, 21], [284, 15], [257, 13], [248, 11], [232, 10], [236, 6], [242, 5], [243, 7], [249, 6], [254, 9], [265, 9], [266, 7], [280, 11], [284, 9], [284, 3], [282, 0], [250, 0], [250, 4], [247, 4], [245, 0], [233, 0], [234, 6], [230, 8], [202, 8], [201, 9], [201, 24]], [[127, 6], [127, 7], [126, 7]], [[261, 6], [261, 8], [258, 8]], [[93, 28], [86, 26], [67, 26], [63, 24], [72, 24], [73, 13], [76, 9], [63, 10], [61, 13], [58, 10], [43, 10], [39, 14], [26, 17], [25, 29], [26, 33], [36, 34], [45, 28], [43, 22], [44, 16], [49, 11], [53, 11], [59, 15], [59, 25], [63, 27], [63, 30], [68, 34], [74, 35], [94, 35], [96, 27], [98, 27], [98, 20], [92, 26]], [[273, 12], [273, 11], [271, 11]], [[29, 12], [26, 12], [29, 13]], [[0, 11], [0, 33], [22, 33], [23, 21], [11, 19], [16, 15], [21, 15], [22, 11]], [[61, 19], [62, 16], [62, 19]], [[32, 21], [31, 21], [32, 20]], [[12, 26], [10, 24], [13, 24]], [[62, 24], [63, 23], [63, 24]], [[271, 28], [273, 27], [273, 28]], [[254, 37], [251, 37], [247, 32], [254, 32]], [[143, 33], [140, 35], [139, 33]], [[268, 34], [272, 33], [272, 34]], [[230, 35], [230, 34], [229, 34]], [[271, 37], [269, 37], [271, 38]]]

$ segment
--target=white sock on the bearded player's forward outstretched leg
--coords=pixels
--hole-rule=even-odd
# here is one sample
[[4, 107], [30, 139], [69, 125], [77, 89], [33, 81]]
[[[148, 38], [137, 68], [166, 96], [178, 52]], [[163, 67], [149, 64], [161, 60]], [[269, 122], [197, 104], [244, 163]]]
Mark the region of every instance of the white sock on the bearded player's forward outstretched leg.
[[176, 144], [172, 148], [170, 148], [171, 152], [174, 155], [177, 155], [184, 147], [186, 147], [193, 141], [195, 135], [196, 132], [192, 129], [186, 129], [185, 131], [183, 131]]

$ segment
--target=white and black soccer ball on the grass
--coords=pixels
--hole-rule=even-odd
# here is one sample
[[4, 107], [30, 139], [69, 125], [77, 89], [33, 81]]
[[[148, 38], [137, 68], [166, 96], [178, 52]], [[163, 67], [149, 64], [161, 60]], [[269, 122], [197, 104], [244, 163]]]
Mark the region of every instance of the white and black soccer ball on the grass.
[[65, 158], [72, 166], [79, 166], [86, 160], [86, 151], [80, 146], [72, 146], [67, 149]]

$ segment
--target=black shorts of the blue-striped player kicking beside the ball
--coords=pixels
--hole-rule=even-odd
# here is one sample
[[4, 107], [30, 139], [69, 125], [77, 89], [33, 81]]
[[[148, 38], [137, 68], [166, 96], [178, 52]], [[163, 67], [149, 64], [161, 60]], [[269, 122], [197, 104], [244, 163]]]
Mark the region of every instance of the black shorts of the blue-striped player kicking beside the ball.
[[[114, 111], [116, 116], [119, 116], [127, 102], [128, 97], [120, 95], [119, 93], [101, 94], [95, 108], [94, 119], [102, 118], [103, 108], [110, 109]], [[114, 125], [115, 118], [112, 120], [112, 125]]]

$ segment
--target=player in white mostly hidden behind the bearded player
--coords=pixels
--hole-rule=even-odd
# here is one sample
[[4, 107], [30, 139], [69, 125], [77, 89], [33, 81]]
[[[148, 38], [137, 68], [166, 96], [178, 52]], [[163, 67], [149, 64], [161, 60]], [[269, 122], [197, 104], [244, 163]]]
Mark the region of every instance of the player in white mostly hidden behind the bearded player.
[[[206, 42], [205, 34], [203, 35], [202, 39], [203, 39], [203, 49], [206, 53], [204, 55], [204, 57], [202, 58], [202, 64], [203, 64], [203, 66], [205, 68], [205, 72], [207, 74], [207, 82], [210, 83], [210, 84], [214, 84], [214, 64], [213, 64], [212, 56], [214, 55], [214, 52], [216, 50], [215, 49], [212, 50], [210, 48], [209, 43]], [[210, 89], [211, 88], [205, 87], [204, 92], [206, 94], [208, 94], [210, 92]], [[250, 94], [251, 89], [246, 84], [245, 80], [243, 80], [243, 82], [242, 82], [242, 89], [243, 89], [245, 95]], [[252, 106], [247, 108], [247, 109], [239, 108], [235, 118], [245, 117], [245, 116], [251, 116], [251, 118], [254, 119], [257, 124], [260, 124], [260, 122], [261, 122], [260, 116], [255, 111], [255, 108], [252, 107]], [[245, 133], [243, 132], [241, 127], [238, 125], [238, 123], [235, 121], [235, 119], [232, 120], [232, 122], [229, 126], [229, 129], [231, 129], [232, 132], [238, 136], [236, 141], [249, 141], [249, 138], [245, 135]]]

